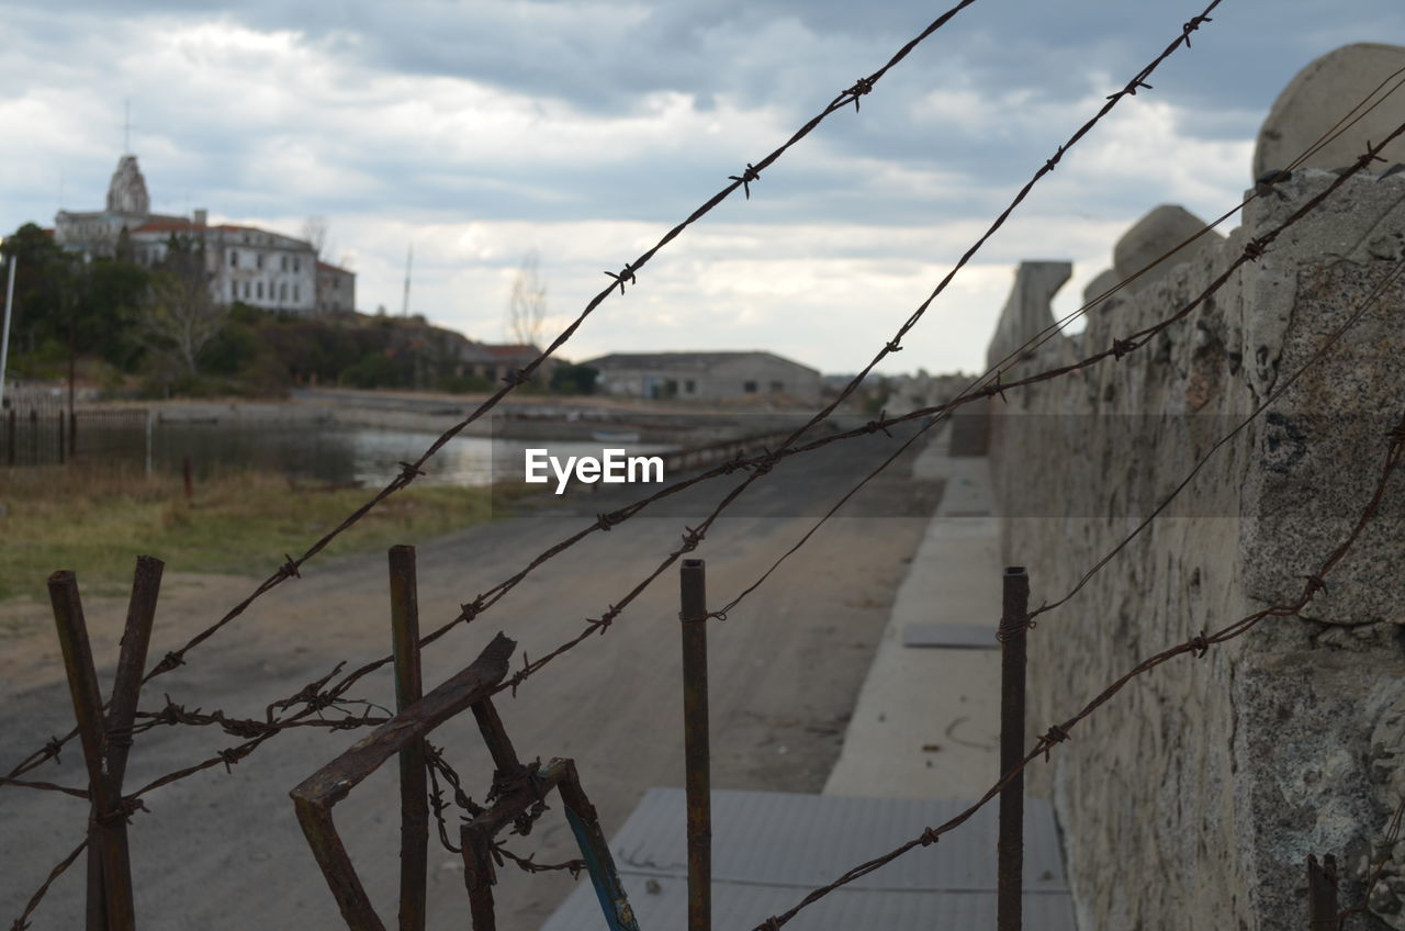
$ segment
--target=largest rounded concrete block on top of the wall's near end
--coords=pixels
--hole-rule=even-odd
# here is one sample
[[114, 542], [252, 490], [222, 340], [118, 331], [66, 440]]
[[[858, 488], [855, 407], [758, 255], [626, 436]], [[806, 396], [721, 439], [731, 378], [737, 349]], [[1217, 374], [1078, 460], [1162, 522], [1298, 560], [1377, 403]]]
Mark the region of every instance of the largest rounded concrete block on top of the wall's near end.
[[[1279, 98], [1273, 101], [1269, 118], [1259, 129], [1250, 179], [1262, 177], [1270, 169], [1287, 166], [1377, 84], [1401, 68], [1405, 68], [1405, 46], [1375, 42], [1345, 45], [1314, 59], [1288, 82]], [[1390, 84], [1385, 90], [1388, 89]], [[1367, 142], [1380, 142], [1399, 124], [1401, 108], [1398, 105], [1377, 107], [1366, 114], [1360, 122], [1322, 146], [1302, 163], [1302, 167], [1346, 167], [1366, 150]], [[1385, 165], [1405, 162], [1405, 138], [1388, 145], [1381, 152], [1381, 158], [1385, 159]], [[1380, 165], [1378, 169], [1384, 169], [1385, 165]]]

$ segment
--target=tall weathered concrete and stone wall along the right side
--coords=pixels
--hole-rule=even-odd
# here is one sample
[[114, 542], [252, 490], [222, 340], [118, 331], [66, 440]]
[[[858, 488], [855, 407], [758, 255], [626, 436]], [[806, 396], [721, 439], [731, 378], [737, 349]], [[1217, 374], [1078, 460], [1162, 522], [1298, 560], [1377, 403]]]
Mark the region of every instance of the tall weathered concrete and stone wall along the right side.
[[[1249, 236], [1333, 180], [1294, 173], [1284, 197], [1249, 204], [1227, 242], [1103, 301], [1085, 333], [1055, 338], [1005, 381], [1170, 315]], [[1118, 243], [1118, 266], [1173, 245], [1184, 218], [1158, 210], [1170, 219], [1135, 228]], [[1353, 179], [1131, 356], [993, 401], [1003, 557], [1028, 567], [1033, 602], [1066, 593], [1402, 256], [1405, 173]], [[1099, 277], [1087, 297], [1121, 271]], [[1064, 263], [1021, 267], [992, 360], [1052, 321], [1048, 300], [1066, 276]], [[1402, 305], [1397, 283], [1166, 516], [1040, 620], [1031, 741], [1139, 660], [1301, 592], [1301, 577], [1364, 506], [1385, 433], [1405, 413]], [[1347, 878], [1343, 906], [1359, 901], [1371, 845], [1405, 797], [1402, 540], [1397, 474], [1381, 516], [1304, 616], [1267, 619], [1203, 660], [1139, 676], [1035, 766], [1035, 790], [1043, 781], [1057, 803], [1083, 931], [1307, 927], [1309, 852], [1335, 854]], [[1405, 928], [1401, 861], [1405, 849], [1373, 917], [1350, 927]]]

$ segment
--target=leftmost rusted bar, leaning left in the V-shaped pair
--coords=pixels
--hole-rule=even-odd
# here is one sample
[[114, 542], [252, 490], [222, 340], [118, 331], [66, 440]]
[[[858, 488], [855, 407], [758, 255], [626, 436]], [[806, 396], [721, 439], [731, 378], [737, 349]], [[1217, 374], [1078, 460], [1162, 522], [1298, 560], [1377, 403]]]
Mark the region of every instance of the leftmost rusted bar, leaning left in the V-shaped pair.
[[[121, 799], [112, 792], [103, 768], [104, 720], [93, 650], [89, 646], [77, 577], [60, 570], [49, 577], [49, 602], [63, 651], [63, 667], [79, 726], [83, 761], [89, 771], [89, 931], [133, 931], [132, 872], [126, 845], [118, 844], [112, 827], [122, 820]], [[93, 866], [93, 862], [100, 868]]]

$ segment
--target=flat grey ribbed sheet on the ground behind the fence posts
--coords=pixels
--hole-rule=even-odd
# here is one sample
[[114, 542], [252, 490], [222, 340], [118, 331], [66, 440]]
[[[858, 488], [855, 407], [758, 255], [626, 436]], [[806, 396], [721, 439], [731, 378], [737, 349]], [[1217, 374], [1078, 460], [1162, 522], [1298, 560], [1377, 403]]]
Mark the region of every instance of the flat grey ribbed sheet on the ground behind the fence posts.
[[[750, 928], [850, 866], [884, 854], [964, 810], [967, 802], [858, 799], [790, 792], [712, 790], [712, 921]], [[610, 842], [641, 928], [680, 928], [687, 916], [681, 789], [649, 789]], [[795, 927], [809, 931], [995, 927], [996, 810], [986, 806], [941, 838], [821, 899]], [[1026, 927], [1073, 931], [1073, 908], [1052, 806], [1026, 799]], [[582, 879], [542, 931], [601, 927]]]

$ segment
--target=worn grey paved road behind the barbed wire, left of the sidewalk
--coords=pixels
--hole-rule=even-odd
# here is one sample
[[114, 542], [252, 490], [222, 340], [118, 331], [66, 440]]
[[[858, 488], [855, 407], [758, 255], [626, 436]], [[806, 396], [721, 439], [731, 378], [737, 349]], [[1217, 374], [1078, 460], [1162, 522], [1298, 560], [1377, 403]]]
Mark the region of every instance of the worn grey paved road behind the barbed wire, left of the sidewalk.
[[[697, 556], [708, 560], [711, 603], [750, 582], [802, 533], [815, 501], [832, 501], [860, 470], [895, 440], [877, 435], [790, 460], [722, 520]], [[913, 482], [899, 463], [871, 484], [771, 581], [724, 624], [710, 627], [714, 785], [726, 789], [818, 792], [839, 751], [843, 726], [882, 631], [894, 591], [915, 551], [926, 515], [939, 496]], [[729, 477], [721, 481], [736, 481]], [[596, 534], [549, 563], [493, 612], [459, 627], [426, 657], [434, 685], [462, 668], [497, 630], [537, 657], [579, 630], [582, 619], [615, 601], [677, 540], [687, 512], [719, 492], [681, 499], [673, 516], [641, 518]], [[621, 499], [622, 501], [622, 499]], [[584, 503], [594, 513], [614, 495]], [[531, 554], [579, 526], [555, 502], [540, 513], [436, 540], [419, 550], [424, 629], [452, 616]], [[611, 833], [649, 786], [683, 782], [677, 641], [677, 584], [670, 571], [631, 606], [608, 636], [592, 637], [531, 679], [500, 713], [524, 758], [575, 757], [586, 792]], [[240, 588], [243, 586], [243, 588]], [[191, 595], [163, 601], [153, 655], [200, 629], [247, 582], [214, 581]], [[110, 643], [121, 610], [96, 601], [89, 610], [96, 640]], [[188, 667], [153, 683], [187, 707], [261, 716], [275, 698], [325, 675], [337, 658], [361, 662], [388, 646], [384, 557], [313, 563], [302, 579], [261, 599], [236, 626], [191, 654]], [[3, 644], [0, 644], [3, 646]], [[108, 681], [98, 648], [100, 678]], [[39, 662], [39, 660], [35, 660]], [[0, 683], [0, 765], [8, 766], [70, 720], [67, 696], [55, 681], [18, 691]], [[367, 681], [358, 696], [384, 705], [391, 683]], [[152, 706], [153, 702], [143, 702]], [[436, 733], [466, 789], [482, 799], [490, 766], [471, 716]], [[289, 788], [355, 740], [348, 733], [291, 731], [235, 766], [197, 775], [148, 796], [150, 814], [131, 827], [138, 917], [143, 931], [219, 928], [273, 931], [339, 928], [322, 876], [294, 821]], [[128, 789], [230, 745], [211, 728], [159, 728], [143, 736], [128, 771]], [[81, 781], [76, 747], [37, 778]], [[398, 810], [395, 768], [386, 766], [337, 807], [353, 859], [381, 914], [393, 924]], [[52, 793], [0, 789], [0, 924], [22, 908], [65, 852], [81, 837], [86, 807]], [[455, 831], [457, 835], [457, 831]], [[531, 837], [513, 838], [520, 854], [541, 862], [572, 855], [559, 809]], [[81, 862], [53, 887], [34, 928], [81, 925]], [[561, 873], [525, 876], [503, 871], [496, 890], [499, 927], [535, 928], [569, 892]], [[431, 927], [466, 925], [462, 863], [431, 847]]]

